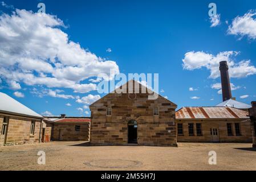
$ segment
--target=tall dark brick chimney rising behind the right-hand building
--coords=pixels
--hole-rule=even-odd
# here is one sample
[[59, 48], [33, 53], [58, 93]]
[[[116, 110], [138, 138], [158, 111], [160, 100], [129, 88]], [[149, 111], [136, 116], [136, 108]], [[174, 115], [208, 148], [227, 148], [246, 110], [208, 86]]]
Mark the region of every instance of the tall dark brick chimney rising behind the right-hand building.
[[230, 100], [232, 98], [231, 86], [229, 80], [229, 66], [227, 61], [220, 62], [221, 71], [221, 88], [222, 88], [222, 99], [223, 101]]

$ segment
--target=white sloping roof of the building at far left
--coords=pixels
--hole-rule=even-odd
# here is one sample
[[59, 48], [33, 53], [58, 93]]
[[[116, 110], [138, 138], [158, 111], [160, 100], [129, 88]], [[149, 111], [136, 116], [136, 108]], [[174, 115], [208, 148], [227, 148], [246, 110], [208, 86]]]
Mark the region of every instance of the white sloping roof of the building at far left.
[[42, 115], [2, 92], [0, 92], [0, 111], [43, 118]]

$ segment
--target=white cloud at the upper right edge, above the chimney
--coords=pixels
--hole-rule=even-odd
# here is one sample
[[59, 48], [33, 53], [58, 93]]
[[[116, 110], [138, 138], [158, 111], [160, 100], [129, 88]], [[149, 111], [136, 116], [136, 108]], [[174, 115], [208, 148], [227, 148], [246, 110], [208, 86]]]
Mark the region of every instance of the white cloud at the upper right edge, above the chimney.
[[249, 39], [256, 39], [256, 11], [250, 10], [243, 16], [237, 16], [227, 30], [227, 34], [247, 36]]

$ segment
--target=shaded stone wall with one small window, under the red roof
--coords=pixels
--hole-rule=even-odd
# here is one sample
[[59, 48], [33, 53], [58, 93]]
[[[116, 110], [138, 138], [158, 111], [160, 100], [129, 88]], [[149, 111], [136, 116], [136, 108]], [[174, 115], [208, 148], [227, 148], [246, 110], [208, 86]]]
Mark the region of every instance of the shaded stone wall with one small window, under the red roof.
[[[80, 126], [80, 131], [75, 130], [76, 125]], [[52, 140], [89, 141], [90, 123], [54, 123]]]

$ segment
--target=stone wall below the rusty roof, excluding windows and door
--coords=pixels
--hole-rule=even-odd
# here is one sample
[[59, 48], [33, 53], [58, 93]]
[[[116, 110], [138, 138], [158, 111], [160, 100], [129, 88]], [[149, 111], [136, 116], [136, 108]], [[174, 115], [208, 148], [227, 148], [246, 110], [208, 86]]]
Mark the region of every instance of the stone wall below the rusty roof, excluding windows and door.
[[[183, 123], [183, 135], [178, 135], [178, 142], [213, 142], [212, 135], [210, 134], [210, 129], [218, 129], [218, 135], [220, 138], [220, 142], [238, 142], [238, 143], [251, 143], [251, 126], [249, 121], [245, 121], [245, 119], [231, 119], [231, 120], [213, 120], [213, 119], [205, 119], [205, 120], [177, 120], [176, 125], [178, 123]], [[194, 136], [189, 136], [188, 131], [188, 123], [194, 123]], [[201, 123], [202, 126], [202, 136], [197, 136], [196, 133], [196, 123]], [[227, 135], [227, 123], [232, 123], [233, 136]], [[241, 136], [235, 135], [235, 123], [239, 123]]]

